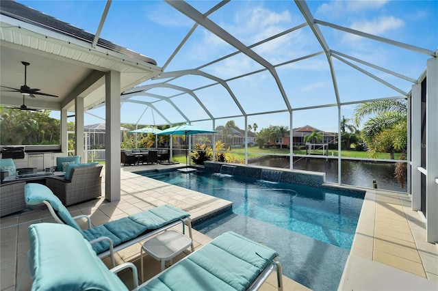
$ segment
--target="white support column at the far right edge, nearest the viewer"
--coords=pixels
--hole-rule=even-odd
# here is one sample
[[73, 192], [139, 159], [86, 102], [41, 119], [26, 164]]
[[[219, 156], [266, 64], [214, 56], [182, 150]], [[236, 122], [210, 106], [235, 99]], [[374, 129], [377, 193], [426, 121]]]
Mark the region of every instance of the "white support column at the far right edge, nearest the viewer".
[[438, 59], [427, 61], [426, 100], [426, 239], [438, 242]]

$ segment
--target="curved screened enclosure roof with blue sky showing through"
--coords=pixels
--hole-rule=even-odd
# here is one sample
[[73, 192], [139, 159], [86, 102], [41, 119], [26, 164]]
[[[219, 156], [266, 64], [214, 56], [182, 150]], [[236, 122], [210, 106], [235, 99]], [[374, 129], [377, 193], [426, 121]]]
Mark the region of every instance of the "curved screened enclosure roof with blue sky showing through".
[[[73, 2], [75, 10], [66, 14], [20, 2], [90, 31], [105, 5]], [[437, 3], [399, 4], [112, 1], [101, 38], [151, 55], [162, 68], [159, 76], [123, 92], [121, 122], [215, 120], [218, 126], [235, 120], [243, 128], [248, 117], [248, 124], [262, 128], [289, 126], [292, 113], [294, 120], [308, 118], [295, 126], [337, 131], [339, 108], [350, 117], [359, 102], [406, 98], [426, 59], [437, 55]], [[77, 19], [91, 14], [94, 21]], [[102, 106], [88, 112], [105, 117]], [[312, 122], [309, 115], [326, 121]]]

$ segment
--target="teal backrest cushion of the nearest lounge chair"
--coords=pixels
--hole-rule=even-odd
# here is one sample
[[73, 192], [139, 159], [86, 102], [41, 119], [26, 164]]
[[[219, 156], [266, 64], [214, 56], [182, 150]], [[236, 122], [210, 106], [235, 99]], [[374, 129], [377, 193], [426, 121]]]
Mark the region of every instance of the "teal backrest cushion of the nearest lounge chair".
[[68, 225], [30, 225], [29, 241], [35, 276], [32, 290], [127, 290]]

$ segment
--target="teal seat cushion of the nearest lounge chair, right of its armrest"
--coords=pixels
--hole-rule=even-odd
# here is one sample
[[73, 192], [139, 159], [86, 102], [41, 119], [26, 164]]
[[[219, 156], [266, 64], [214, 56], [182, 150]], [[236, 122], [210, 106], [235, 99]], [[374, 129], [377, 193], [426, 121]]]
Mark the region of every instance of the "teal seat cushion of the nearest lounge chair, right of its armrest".
[[278, 254], [226, 232], [188, 255], [141, 290], [246, 290]]

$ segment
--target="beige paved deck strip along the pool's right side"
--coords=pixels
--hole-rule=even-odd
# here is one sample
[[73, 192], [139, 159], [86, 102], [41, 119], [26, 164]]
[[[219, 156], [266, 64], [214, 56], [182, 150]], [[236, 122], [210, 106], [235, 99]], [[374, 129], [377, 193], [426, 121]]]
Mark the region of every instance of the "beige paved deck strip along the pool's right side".
[[438, 249], [420, 237], [425, 232], [409, 194], [368, 189], [338, 290], [436, 290]]

